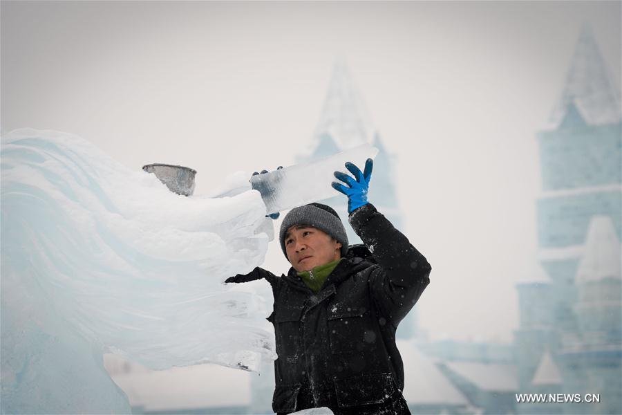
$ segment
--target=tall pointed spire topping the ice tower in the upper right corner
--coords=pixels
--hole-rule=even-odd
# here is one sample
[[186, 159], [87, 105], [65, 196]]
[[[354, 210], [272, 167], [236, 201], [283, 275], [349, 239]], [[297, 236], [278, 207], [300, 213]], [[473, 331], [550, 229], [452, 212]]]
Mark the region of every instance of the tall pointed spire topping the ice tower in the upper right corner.
[[560, 100], [549, 119], [549, 128], [567, 124], [572, 107], [587, 124], [615, 124], [621, 120], [620, 91], [607, 68], [592, 30], [583, 25], [574, 50]]

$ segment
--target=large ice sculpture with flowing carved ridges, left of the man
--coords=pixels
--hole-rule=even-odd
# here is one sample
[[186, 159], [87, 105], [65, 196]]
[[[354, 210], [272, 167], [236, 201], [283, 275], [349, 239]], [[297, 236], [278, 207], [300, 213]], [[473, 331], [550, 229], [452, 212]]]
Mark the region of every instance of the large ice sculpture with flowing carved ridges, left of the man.
[[276, 358], [270, 298], [223, 284], [270, 239], [247, 175], [218, 190], [230, 197], [179, 196], [32, 129], [2, 138], [1, 174], [2, 413], [131, 412], [106, 351], [151, 369]]

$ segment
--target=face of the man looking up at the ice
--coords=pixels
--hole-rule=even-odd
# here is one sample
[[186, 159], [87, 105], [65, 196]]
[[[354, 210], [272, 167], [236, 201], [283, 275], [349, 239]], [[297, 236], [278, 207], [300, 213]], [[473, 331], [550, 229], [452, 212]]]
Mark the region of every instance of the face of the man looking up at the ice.
[[285, 233], [285, 252], [296, 271], [309, 271], [341, 258], [341, 243], [317, 228], [294, 225]]

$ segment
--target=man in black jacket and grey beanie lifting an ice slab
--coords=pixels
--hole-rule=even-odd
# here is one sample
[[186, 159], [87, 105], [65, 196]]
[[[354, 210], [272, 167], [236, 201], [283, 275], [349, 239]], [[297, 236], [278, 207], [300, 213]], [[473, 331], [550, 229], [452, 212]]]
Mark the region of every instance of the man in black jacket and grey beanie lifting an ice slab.
[[[364, 245], [349, 246], [339, 215], [320, 203], [292, 209], [279, 241], [292, 264], [276, 277], [261, 268], [227, 282], [272, 285], [276, 387], [272, 409], [289, 414], [329, 407], [334, 414], [410, 414], [397, 324], [430, 282], [431, 266], [367, 201], [373, 167], [335, 172], [348, 196], [350, 225]], [[412, 368], [416, 370], [416, 368]]]

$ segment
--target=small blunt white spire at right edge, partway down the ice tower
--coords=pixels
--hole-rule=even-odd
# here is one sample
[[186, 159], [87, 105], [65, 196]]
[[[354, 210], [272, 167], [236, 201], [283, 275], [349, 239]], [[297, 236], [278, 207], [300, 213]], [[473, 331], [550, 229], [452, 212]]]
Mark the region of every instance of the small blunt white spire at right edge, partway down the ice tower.
[[621, 278], [620, 241], [609, 216], [594, 216], [585, 242], [585, 256], [576, 273], [576, 281], [590, 282], [605, 277]]

